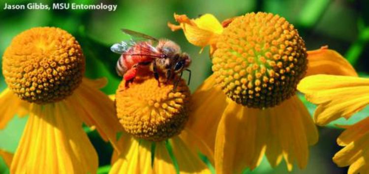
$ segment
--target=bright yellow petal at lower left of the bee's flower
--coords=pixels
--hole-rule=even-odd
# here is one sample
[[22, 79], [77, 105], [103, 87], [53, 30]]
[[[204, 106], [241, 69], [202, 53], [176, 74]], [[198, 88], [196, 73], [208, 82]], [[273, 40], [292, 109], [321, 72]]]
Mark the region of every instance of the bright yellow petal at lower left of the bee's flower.
[[153, 174], [151, 163], [151, 145], [145, 140], [134, 138], [125, 141], [129, 147], [114, 162], [109, 174]]

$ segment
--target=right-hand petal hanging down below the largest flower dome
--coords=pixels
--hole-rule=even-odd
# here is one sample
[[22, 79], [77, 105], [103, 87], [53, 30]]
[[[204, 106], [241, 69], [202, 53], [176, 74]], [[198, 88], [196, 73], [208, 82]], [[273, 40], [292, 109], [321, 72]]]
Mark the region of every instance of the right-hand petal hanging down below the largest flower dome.
[[[295, 161], [299, 168], [305, 168], [308, 159], [308, 145], [313, 145], [318, 140], [317, 129], [306, 107], [297, 96], [293, 96], [291, 99], [283, 101], [280, 105], [268, 110], [271, 113], [269, 136], [278, 137], [274, 141], [279, 142], [281, 150], [277, 149], [277, 152], [282, 151], [288, 170], [292, 170]], [[267, 146], [268, 159], [270, 159], [269, 155], [272, 154], [271, 157], [274, 157], [275, 160], [272, 161], [272, 164], [277, 164], [276, 160], [279, 156], [276, 152], [269, 151], [268, 148], [277, 144], [277, 142], [271, 142]]]

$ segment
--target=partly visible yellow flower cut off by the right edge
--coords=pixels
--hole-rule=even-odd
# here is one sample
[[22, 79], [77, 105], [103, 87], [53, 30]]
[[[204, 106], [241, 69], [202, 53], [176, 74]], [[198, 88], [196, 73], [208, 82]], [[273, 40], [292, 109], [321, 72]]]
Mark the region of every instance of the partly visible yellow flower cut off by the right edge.
[[[301, 80], [298, 89], [309, 101], [318, 104], [315, 122], [328, 124], [340, 117], [349, 119], [369, 104], [369, 79], [339, 75], [311, 75]], [[339, 167], [350, 166], [349, 174], [368, 172], [369, 118], [354, 125], [343, 126], [345, 131], [337, 143], [343, 146], [333, 157]]]

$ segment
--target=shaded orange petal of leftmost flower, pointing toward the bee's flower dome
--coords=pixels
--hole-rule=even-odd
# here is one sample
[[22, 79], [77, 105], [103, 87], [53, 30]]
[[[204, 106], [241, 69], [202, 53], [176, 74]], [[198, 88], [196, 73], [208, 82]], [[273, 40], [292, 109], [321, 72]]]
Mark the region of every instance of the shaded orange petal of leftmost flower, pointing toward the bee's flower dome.
[[75, 108], [81, 119], [89, 126], [95, 126], [101, 137], [109, 140], [116, 150], [116, 135], [123, 131], [122, 125], [115, 114], [114, 101], [99, 91], [91, 80], [84, 78], [74, 94], [66, 99], [69, 107]]

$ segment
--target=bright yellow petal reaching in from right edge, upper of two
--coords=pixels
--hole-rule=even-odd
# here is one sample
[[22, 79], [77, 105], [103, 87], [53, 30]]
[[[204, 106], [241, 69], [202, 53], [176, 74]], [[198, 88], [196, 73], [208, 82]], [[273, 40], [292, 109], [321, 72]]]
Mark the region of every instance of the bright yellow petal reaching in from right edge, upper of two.
[[307, 100], [318, 104], [314, 113], [316, 124], [325, 125], [351, 115], [369, 104], [369, 79], [339, 75], [312, 75], [297, 87]]

